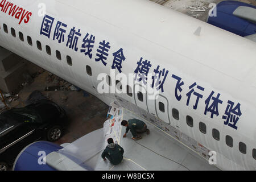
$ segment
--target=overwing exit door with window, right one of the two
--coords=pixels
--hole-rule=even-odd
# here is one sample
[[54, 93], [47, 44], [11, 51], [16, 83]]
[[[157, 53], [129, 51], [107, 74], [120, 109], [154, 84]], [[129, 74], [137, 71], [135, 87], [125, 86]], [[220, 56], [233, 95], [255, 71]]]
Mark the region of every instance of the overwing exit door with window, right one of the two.
[[164, 122], [170, 124], [169, 115], [169, 102], [166, 97], [159, 94], [159, 97], [155, 100], [156, 115]]

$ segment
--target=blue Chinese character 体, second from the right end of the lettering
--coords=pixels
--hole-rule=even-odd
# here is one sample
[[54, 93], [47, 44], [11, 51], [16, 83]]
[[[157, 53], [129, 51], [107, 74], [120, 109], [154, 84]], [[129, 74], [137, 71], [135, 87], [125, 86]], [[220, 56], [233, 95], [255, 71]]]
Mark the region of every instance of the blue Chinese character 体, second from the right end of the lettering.
[[[213, 115], [218, 116], [218, 104], [222, 104], [222, 101], [218, 98], [220, 97], [220, 93], [217, 94], [217, 97], [213, 97], [214, 92], [210, 93], [210, 96], [205, 100], [205, 110], [204, 114], [207, 115], [207, 112], [210, 112], [210, 117], [213, 118]], [[210, 100], [213, 100], [212, 104], [209, 106]], [[208, 107], [209, 106], [209, 107]]]

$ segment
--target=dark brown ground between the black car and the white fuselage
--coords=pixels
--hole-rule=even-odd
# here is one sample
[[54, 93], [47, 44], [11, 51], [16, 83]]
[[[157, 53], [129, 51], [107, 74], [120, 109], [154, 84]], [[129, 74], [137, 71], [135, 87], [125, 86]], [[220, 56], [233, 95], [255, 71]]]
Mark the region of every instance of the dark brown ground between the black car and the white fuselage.
[[[51, 74], [50, 74], [51, 75]], [[55, 78], [53, 81], [51, 78]], [[98, 98], [89, 94], [84, 97], [82, 90], [78, 91], [50, 91], [45, 92], [46, 86], [59, 86], [64, 81], [53, 75], [49, 76], [49, 72], [43, 71], [34, 79], [32, 84], [24, 86], [18, 93], [18, 100], [10, 102], [11, 107], [23, 107], [26, 105], [27, 97], [34, 91], [39, 90], [50, 100], [56, 102], [67, 111], [70, 125], [67, 133], [56, 143], [62, 144], [73, 142], [74, 140], [88, 134], [94, 130], [103, 127], [108, 113], [108, 106]]]

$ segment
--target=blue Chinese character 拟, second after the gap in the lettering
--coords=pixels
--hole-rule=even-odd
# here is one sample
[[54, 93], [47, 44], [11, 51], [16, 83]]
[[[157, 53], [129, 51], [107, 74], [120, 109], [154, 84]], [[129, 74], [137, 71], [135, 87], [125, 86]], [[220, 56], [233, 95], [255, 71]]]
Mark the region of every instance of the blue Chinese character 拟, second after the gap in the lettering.
[[[158, 67], [156, 69], [154, 69], [155, 75], [152, 76], [151, 87], [153, 88], [154, 86], [156, 86], [156, 90], [161, 89], [161, 91], [164, 92], [163, 84], [164, 84], [164, 81], [166, 81], [166, 77], [167, 77], [169, 71], [168, 70], [166, 71], [165, 68], [163, 70], [159, 71], [159, 67], [160, 66], [158, 65]], [[161, 76], [163, 76], [163, 80], [160, 80]]]

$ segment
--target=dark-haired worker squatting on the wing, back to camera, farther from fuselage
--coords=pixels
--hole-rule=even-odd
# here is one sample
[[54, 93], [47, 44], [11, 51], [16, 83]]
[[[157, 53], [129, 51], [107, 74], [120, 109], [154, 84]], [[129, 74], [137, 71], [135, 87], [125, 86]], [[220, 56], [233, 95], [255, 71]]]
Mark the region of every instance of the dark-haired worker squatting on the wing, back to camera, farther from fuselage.
[[108, 139], [108, 146], [102, 152], [102, 159], [105, 161], [106, 158], [109, 159], [110, 163], [117, 165], [123, 160], [123, 148], [119, 144], [114, 144], [112, 138]]

